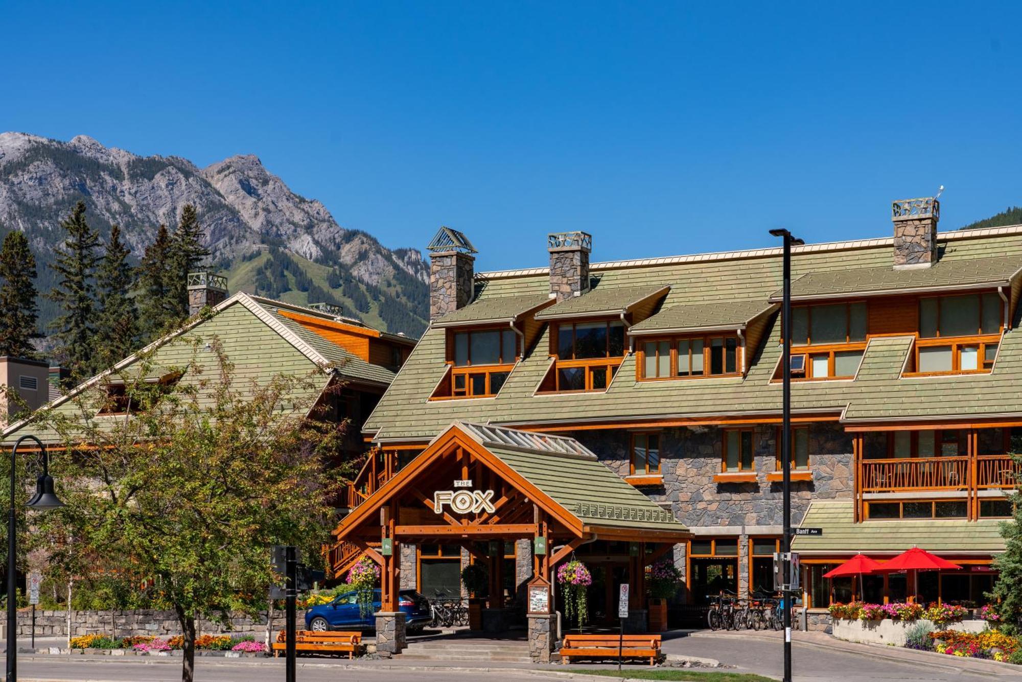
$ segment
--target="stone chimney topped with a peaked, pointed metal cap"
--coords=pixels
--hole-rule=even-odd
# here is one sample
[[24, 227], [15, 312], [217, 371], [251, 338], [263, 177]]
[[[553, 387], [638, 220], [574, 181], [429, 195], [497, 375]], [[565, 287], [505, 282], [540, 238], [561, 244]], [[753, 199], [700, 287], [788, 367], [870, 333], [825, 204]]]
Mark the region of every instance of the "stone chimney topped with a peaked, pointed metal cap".
[[475, 248], [463, 233], [440, 228], [429, 251], [429, 320], [436, 320], [472, 302]]

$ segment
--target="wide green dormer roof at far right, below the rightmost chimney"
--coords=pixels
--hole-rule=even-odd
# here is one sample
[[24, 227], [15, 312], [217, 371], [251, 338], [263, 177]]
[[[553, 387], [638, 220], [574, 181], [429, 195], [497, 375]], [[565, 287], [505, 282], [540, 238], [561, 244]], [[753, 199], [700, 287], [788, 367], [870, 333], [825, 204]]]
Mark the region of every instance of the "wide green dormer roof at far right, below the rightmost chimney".
[[[792, 298], [824, 298], [850, 294], [879, 294], [941, 290], [978, 286], [1003, 286], [1022, 269], [1018, 254], [957, 260], [944, 258], [932, 267], [894, 270], [891, 266], [862, 267], [825, 273], [806, 273], [791, 283]], [[782, 291], [771, 300], [779, 301]]]

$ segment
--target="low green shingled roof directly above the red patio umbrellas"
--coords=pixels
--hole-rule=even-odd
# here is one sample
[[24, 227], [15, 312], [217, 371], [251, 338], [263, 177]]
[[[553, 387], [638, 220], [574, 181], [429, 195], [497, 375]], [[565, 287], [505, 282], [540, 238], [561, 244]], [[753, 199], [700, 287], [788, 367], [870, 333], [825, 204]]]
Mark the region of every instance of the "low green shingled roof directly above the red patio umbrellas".
[[821, 536], [798, 535], [792, 551], [801, 553], [900, 554], [912, 547], [934, 553], [1001, 552], [1005, 541], [994, 519], [902, 519], [853, 523], [851, 500], [814, 500], [802, 528], [822, 528]]

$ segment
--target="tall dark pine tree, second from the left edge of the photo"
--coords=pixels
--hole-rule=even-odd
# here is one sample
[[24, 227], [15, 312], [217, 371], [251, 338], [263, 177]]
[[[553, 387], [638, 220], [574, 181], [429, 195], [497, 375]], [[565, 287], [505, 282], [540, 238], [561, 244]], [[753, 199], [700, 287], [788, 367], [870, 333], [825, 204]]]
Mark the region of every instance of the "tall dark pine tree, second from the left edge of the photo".
[[95, 330], [95, 274], [99, 262], [99, 234], [85, 221], [85, 202], [78, 205], [60, 227], [66, 233], [62, 246], [56, 249], [52, 265], [59, 278], [47, 298], [61, 310], [51, 327], [59, 343], [57, 355], [69, 370], [72, 380], [81, 380], [95, 369], [92, 356], [92, 335]]

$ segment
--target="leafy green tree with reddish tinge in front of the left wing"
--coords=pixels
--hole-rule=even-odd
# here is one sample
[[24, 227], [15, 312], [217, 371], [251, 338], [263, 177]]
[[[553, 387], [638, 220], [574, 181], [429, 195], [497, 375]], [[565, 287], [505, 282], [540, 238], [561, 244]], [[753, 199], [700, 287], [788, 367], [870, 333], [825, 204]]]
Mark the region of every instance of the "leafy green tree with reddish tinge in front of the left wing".
[[[216, 337], [171, 343], [186, 344], [177, 354], [190, 355], [186, 364], [159, 366], [147, 353], [121, 376], [123, 392], [97, 387], [73, 408], [35, 418], [69, 455], [51, 467], [67, 505], [39, 523], [74, 537], [78, 555], [101, 557], [96, 568], [154, 586], [152, 602], [180, 622], [189, 682], [196, 620], [263, 611], [274, 544], [298, 545], [315, 562], [338, 489], [328, 481], [351, 472], [329, 466], [342, 428], [311, 409], [320, 372], [257, 384], [235, 376]], [[104, 404], [133, 419], [97, 418]], [[55, 548], [53, 561], [65, 550]]]

